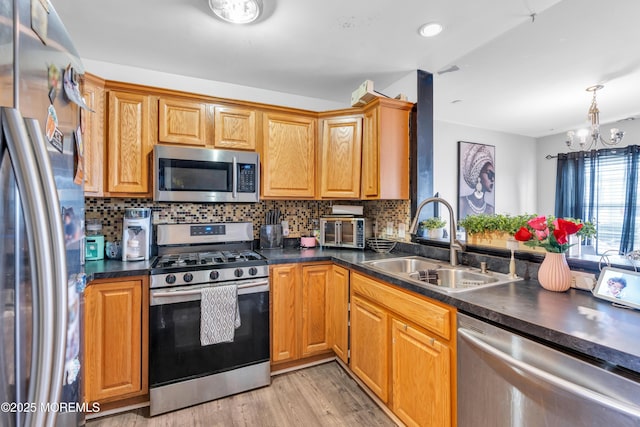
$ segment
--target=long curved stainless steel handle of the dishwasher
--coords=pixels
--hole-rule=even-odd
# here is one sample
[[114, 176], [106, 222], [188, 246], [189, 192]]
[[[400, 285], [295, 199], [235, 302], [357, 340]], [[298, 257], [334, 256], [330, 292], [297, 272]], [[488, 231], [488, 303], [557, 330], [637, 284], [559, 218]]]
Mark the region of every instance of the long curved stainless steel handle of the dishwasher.
[[564, 391], [577, 395], [591, 402], [606, 406], [607, 408], [614, 411], [625, 413], [633, 417], [640, 416], [640, 408], [638, 408], [637, 406], [613, 399], [605, 394], [601, 394], [586, 387], [582, 387], [578, 384], [572, 383], [571, 381], [567, 381], [564, 378], [558, 377], [547, 371], [530, 365], [529, 363], [523, 362], [522, 360], [518, 360], [510, 354], [500, 351], [494, 346], [486, 343], [480, 337], [478, 337], [477, 334], [469, 329], [458, 329], [458, 336], [477, 349], [484, 351], [485, 353], [489, 353], [491, 356], [499, 359], [510, 368], [519, 369], [525, 375], [529, 375], [530, 377], [556, 386]]

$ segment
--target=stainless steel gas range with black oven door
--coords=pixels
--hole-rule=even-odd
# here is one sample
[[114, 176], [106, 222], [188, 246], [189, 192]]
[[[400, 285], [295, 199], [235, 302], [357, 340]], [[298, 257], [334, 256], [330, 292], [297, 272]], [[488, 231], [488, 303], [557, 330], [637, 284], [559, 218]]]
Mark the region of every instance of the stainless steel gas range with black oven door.
[[[162, 224], [157, 245], [149, 298], [150, 414], [270, 384], [269, 268], [252, 249], [253, 224]], [[203, 345], [203, 292], [229, 286], [240, 326], [233, 341]]]

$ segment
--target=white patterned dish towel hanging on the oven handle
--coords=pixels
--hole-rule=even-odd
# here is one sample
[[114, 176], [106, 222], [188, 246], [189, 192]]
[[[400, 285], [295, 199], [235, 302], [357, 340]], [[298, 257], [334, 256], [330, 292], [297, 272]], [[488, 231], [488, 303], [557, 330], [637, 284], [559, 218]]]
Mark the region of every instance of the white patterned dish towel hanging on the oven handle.
[[238, 287], [211, 286], [200, 293], [200, 344], [232, 342], [241, 324]]

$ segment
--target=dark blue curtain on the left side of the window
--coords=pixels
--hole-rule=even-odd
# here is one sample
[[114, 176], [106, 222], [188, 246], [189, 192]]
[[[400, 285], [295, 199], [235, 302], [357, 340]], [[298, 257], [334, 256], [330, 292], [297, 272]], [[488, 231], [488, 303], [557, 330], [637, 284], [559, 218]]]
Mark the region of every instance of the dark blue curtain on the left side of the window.
[[584, 219], [584, 151], [558, 154], [556, 175], [556, 218]]

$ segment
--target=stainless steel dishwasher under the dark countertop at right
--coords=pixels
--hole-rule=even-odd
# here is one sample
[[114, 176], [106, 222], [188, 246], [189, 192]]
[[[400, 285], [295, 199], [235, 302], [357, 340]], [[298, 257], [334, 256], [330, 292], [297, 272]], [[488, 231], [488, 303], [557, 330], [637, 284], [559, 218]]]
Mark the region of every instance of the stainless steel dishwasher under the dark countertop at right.
[[640, 425], [640, 376], [464, 314], [457, 344], [459, 427]]

